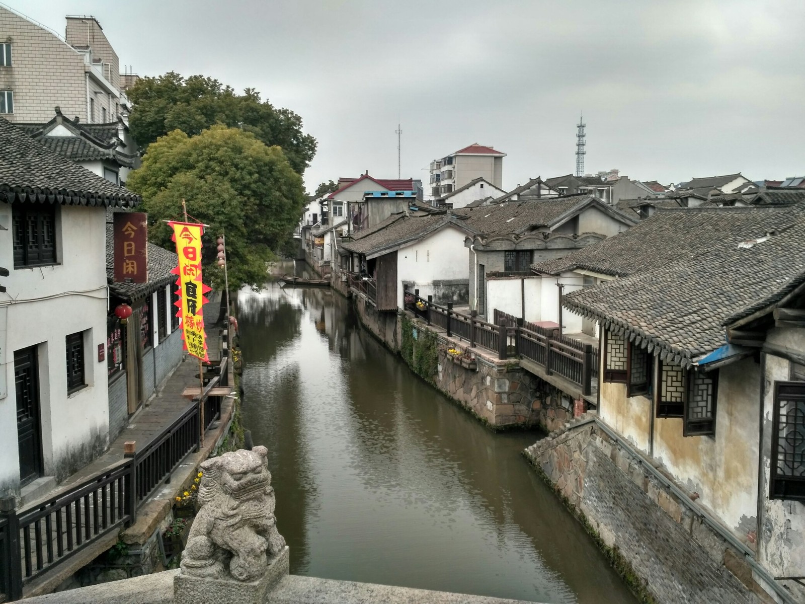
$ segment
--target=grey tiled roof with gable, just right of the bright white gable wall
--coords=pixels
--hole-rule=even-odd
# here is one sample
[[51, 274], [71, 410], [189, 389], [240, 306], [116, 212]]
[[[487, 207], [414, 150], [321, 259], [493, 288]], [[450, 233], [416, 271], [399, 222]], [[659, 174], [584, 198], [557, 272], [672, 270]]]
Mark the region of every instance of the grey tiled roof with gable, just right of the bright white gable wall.
[[466, 217], [467, 225], [479, 234], [523, 234], [539, 227], [550, 227], [560, 220], [595, 204], [603, 211], [633, 225], [635, 219], [592, 195], [548, 197], [542, 200], [507, 201], [503, 204], [481, 205], [453, 210], [456, 216]]

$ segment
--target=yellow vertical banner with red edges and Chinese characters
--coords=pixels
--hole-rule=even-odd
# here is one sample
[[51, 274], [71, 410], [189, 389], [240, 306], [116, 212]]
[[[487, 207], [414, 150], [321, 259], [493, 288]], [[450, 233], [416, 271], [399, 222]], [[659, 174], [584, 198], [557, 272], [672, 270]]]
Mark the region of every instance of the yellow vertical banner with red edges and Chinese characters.
[[188, 222], [168, 222], [179, 254], [179, 266], [173, 271], [179, 276], [179, 307], [177, 316], [182, 320], [184, 350], [202, 361], [207, 361], [207, 344], [204, 337], [204, 316], [201, 306], [207, 301], [204, 294], [210, 291], [201, 283], [201, 235], [202, 225]]

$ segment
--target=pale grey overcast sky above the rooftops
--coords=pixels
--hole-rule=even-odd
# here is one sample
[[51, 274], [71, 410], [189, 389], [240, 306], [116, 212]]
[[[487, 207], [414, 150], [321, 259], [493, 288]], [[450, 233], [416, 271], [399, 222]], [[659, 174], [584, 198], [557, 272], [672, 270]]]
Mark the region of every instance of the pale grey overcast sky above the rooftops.
[[[322, 180], [428, 178], [471, 143], [503, 186], [575, 169], [664, 184], [805, 174], [803, 0], [2, 0], [64, 34], [93, 14], [121, 66], [202, 73], [300, 114]], [[427, 188], [427, 185], [426, 185]]]

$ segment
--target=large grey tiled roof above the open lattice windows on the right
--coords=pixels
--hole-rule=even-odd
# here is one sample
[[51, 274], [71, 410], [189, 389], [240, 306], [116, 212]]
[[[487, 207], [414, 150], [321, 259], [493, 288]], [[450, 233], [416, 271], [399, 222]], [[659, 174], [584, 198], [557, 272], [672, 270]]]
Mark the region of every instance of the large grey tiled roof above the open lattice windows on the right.
[[565, 306], [691, 366], [725, 344], [726, 323], [805, 280], [803, 241], [802, 205], [662, 211], [568, 254], [595, 255], [628, 276], [572, 292]]

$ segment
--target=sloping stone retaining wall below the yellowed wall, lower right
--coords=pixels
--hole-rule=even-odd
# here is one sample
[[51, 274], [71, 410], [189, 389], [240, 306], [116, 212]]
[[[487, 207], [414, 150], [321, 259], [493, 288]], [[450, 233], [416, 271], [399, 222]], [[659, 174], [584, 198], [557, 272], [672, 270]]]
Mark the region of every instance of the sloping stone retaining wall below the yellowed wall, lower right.
[[526, 449], [526, 457], [646, 601], [771, 602], [742, 553], [592, 417], [552, 432]]

